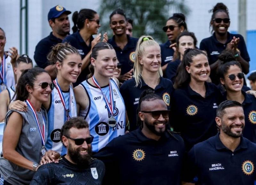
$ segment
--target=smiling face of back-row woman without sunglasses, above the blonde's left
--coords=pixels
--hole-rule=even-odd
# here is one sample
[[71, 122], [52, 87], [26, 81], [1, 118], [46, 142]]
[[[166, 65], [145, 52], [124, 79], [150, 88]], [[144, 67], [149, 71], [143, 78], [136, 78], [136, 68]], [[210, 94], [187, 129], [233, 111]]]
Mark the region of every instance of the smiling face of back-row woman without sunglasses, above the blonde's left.
[[126, 34], [127, 22], [123, 15], [114, 14], [110, 19], [110, 28], [117, 36]]

